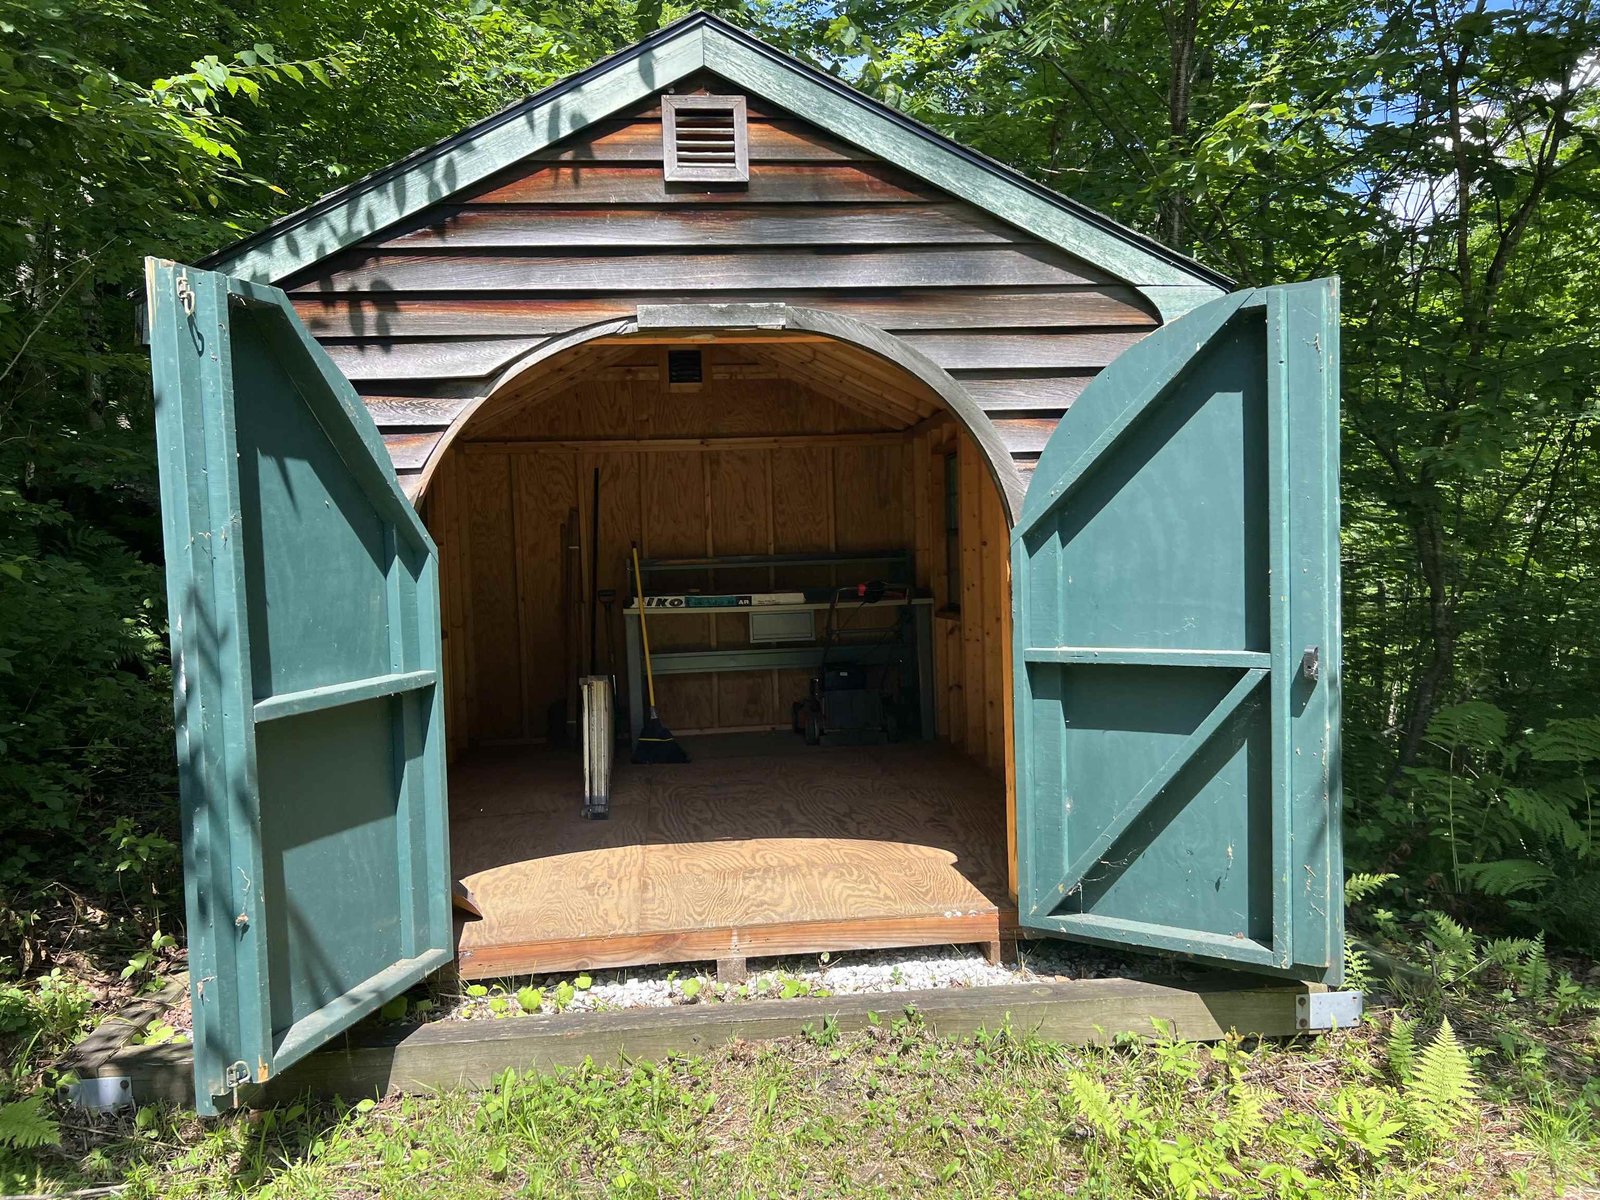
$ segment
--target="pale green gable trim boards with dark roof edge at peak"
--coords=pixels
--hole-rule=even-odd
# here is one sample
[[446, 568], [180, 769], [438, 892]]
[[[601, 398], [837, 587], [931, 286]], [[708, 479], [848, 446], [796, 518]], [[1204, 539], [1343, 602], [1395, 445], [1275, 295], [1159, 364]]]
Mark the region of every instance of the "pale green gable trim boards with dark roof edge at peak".
[[198, 266], [274, 283], [696, 72], [779, 104], [1136, 286], [1163, 320], [1226, 291], [1200, 262], [934, 133], [709, 13], [666, 26], [502, 112], [357, 179]]

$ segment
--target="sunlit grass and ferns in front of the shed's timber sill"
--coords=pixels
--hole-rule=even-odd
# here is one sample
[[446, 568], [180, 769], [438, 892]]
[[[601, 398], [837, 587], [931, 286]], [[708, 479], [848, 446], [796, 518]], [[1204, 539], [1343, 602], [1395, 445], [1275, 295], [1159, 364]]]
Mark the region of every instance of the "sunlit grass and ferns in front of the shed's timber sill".
[[1600, 1133], [1594, 1030], [1570, 1032], [1579, 1074], [1562, 1082], [1544, 1059], [1533, 1096], [1502, 1048], [1472, 1051], [1426, 1016], [1291, 1045], [1152, 1030], [1102, 1048], [947, 1040], [901, 1016], [661, 1066], [507, 1074], [486, 1094], [211, 1123], [144, 1109], [67, 1131], [11, 1182], [122, 1179], [130, 1200], [1578, 1195]]

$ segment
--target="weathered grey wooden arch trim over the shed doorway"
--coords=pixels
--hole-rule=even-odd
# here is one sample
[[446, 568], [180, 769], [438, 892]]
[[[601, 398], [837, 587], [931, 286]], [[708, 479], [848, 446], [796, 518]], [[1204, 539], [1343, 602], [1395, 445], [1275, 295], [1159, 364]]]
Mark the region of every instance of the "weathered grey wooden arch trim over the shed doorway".
[[504, 395], [518, 381], [568, 350], [602, 338], [626, 338], [645, 330], [653, 333], [683, 331], [699, 334], [712, 331], [736, 333], [741, 330], [794, 330], [832, 338], [893, 363], [928, 387], [955, 422], [971, 434], [989, 469], [989, 475], [1000, 491], [1006, 525], [1016, 525], [1018, 515], [1022, 510], [1026, 485], [1011, 459], [1011, 453], [1000, 438], [1000, 432], [973, 395], [962, 387], [960, 381], [904, 339], [875, 325], [867, 325], [853, 317], [842, 317], [837, 312], [794, 304], [642, 304], [634, 317], [584, 325], [541, 342], [506, 366], [494, 378], [494, 382], [490, 384], [488, 390], [467, 405], [450, 424], [450, 429], [445, 430], [445, 435], [434, 446], [432, 453], [429, 453], [427, 462], [422, 466], [413, 502], [418, 506], [422, 504], [434, 472], [438, 469], [450, 446], [491, 400]]

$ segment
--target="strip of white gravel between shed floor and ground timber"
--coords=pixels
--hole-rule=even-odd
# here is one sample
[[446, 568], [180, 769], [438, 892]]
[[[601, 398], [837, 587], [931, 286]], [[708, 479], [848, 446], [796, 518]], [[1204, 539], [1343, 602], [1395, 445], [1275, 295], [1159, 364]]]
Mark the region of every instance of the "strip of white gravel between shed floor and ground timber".
[[443, 1010], [442, 1016], [470, 1021], [512, 1018], [523, 1011], [614, 1011], [1176, 971], [1182, 971], [1182, 965], [1171, 960], [1123, 957], [1067, 942], [1022, 942], [1014, 966], [992, 966], [973, 946], [946, 946], [750, 960], [750, 978], [739, 986], [718, 984], [715, 963], [630, 966], [482, 982], [462, 986], [459, 995], [438, 997], [438, 1010]]

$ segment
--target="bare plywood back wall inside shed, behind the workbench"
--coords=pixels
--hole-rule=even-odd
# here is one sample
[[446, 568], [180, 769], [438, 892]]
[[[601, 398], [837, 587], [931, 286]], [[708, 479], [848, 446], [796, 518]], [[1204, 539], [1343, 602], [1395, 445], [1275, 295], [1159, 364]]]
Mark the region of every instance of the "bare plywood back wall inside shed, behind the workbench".
[[[645, 350], [533, 403], [486, 413], [429, 488], [427, 518], [446, 578], [453, 749], [539, 741], [571, 656], [587, 659], [587, 610], [563, 611], [563, 568], [587, 578], [592, 480], [600, 470], [598, 586], [618, 606], [598, 630], [626, 688], [621, 603], [627, 554], [710, 557], [902, 549], [912, 541], [909, 446], [894, 422], [842, 405], [776, 366], [707, 350], [699, 390], [669, 390]], [[739, 438], [738, 448], [720, 448]], [[611, 443], [611, 445], [606, 445]], [[670, 443], [662, 450], [651, 443]], [[688, 445], [685, 445], [688, 443]], [[701, 443], [701, 445], [696, 445]], [[614, 446], [614, 448], [613, 448]], [[576, 512], [578, 557], [562, 546]], [[579, 568], [578, 563], [582, 563]], [[826, 576], [720, 571], [683, 586], [752, 590]], [[602, 614], [603, 616], [603, 614]], [[662, 616], [656, 650], [747, 645], [741, 614]], [[805, 672], [658, 680], [675, 731], [787, 726]]]

